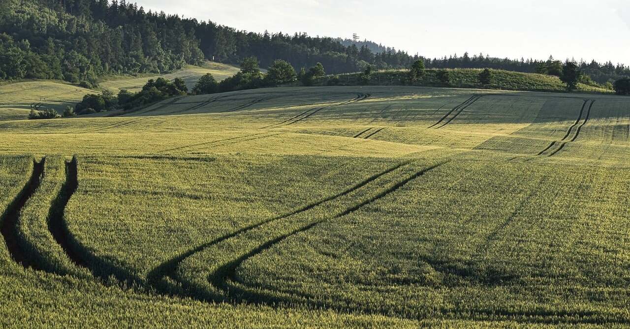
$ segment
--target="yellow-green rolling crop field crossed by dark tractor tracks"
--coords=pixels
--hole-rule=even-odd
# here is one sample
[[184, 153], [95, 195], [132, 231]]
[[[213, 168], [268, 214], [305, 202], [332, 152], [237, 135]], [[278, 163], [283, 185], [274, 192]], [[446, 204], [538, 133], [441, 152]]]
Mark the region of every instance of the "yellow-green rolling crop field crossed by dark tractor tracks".
[[630, 323], [630, 98], [280, 87], [0, 138], [3, 327]]

